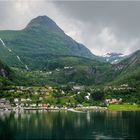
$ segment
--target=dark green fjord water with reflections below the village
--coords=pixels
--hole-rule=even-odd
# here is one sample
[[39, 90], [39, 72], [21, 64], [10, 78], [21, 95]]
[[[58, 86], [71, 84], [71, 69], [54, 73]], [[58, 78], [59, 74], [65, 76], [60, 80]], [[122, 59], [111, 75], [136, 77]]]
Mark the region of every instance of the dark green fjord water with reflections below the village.
[[0, 112], [0, 139], [140, 139], [139, 111]]

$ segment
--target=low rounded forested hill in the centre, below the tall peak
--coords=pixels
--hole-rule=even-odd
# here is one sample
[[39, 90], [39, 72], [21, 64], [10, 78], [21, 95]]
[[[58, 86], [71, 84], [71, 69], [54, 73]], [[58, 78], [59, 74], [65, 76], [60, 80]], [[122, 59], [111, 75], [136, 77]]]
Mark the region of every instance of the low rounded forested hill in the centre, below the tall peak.
[[[16, 69], [18, 72], [33, 77], [36, 75], [41, 78], [43, 84], [103, 84], [112, 80], [115, 77], [115, 73], [110, 64], [91, 60], [82, 57], [73, 56], [59, 56], [57, 58], [49, 58], [46, 69], [41, 71], [30, 71], [23, 73]], [[44, 77], [44, 78], [43, 78]]]

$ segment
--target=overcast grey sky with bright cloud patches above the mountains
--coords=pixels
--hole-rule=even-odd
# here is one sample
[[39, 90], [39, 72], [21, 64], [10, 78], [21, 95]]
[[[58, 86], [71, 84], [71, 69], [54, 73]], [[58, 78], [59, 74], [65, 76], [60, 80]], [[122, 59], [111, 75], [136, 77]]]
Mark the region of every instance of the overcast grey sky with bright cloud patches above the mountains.
[[22, 29], [39, 15], [96, 55], [140, 49], [140, 2], [0, 0], [0, 30]]

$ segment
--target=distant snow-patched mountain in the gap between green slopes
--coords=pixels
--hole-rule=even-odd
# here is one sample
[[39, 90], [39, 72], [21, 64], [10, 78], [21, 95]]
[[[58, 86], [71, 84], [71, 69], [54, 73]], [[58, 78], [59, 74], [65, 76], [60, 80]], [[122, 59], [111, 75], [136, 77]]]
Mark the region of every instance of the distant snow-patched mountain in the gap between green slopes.
[[117, 64], [125, 57], [126, 56], [124, 56], [122, 53], [116, 53], [116, 52], [107, 53], [104, 56], [102, 56], [103, 60], [111, 64]]

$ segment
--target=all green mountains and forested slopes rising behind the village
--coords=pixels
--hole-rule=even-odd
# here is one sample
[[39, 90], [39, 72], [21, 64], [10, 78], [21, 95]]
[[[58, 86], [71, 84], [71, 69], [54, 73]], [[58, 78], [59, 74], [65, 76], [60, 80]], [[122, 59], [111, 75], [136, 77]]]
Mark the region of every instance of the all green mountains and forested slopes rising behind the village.
[[139, 82], [140, 51], [127, 57], [108, 53], [104, 59], [112, 64], [98, 61], [47, 16], [31, 20], [23, 30], [0, 31], [0, 59], [11, 67], [1, 62], [1, 79], [21, 85]]

